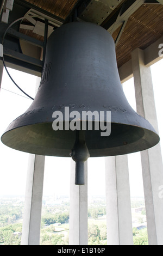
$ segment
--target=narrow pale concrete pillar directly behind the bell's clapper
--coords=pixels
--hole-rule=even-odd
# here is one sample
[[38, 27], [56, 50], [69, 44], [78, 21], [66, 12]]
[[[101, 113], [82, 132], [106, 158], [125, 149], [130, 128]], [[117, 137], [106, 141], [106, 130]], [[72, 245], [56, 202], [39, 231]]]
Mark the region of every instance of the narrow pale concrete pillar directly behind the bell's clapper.
[[71, 160], [69, 245], [87, 245], [87, 162], [85, 185], [75, 185], [75, 162]]

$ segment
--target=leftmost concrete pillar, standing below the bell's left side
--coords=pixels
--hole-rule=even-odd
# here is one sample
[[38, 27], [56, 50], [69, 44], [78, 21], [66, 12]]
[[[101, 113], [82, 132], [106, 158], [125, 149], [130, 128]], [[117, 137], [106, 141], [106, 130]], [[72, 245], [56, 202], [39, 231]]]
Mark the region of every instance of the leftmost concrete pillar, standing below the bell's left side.
[[29, 155], [21, 245], [39, 245], [45, 156]]

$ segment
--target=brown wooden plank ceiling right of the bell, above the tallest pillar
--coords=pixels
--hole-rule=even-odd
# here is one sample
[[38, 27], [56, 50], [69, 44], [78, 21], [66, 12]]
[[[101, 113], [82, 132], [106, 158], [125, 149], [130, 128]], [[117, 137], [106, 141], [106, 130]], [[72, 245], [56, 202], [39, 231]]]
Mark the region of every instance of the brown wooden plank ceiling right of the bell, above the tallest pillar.
[[[163, 34], [163, 5], [143, 4], [130, 16], [116, 47], [118, 68], [131, 59], [131, 52], [142, 50], [158, 40]], [[120, 28], [114, 32], [114, 40]]]

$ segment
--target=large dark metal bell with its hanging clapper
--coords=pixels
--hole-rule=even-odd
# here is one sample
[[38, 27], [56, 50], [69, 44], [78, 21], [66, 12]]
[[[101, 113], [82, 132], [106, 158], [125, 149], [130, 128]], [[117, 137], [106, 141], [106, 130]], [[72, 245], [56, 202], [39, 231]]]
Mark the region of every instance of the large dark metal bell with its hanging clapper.
[[[92, 130], [65, 129], [74, 119], [73, 115], [65, 118], [65, 109], [70, 115], [77, 111], [79, 123], [89, 123], [82, 119], [84, 111], [104, 113], [104, 125], [109, 124], [107, 113], [111, 112], [111, 134], [101, 136], [100, 127], [95, 129], [96, 118]], [[64, 118], [59, 130], [52, 127], [56, 111]], [[89, 22], [67, 23], [49, 36], [35, 99], [1, 139], [10, 148], [32, 154], [71, 155], [77, 163], [76, 184], [84, 183], [84, 161], [89, 156], [134, 153], [159, 142], [152, 125], [130, 107], [123, 93], [112, 36]]]

